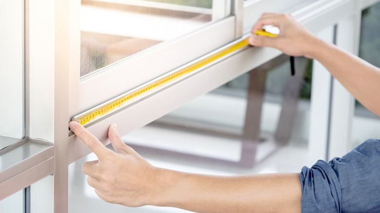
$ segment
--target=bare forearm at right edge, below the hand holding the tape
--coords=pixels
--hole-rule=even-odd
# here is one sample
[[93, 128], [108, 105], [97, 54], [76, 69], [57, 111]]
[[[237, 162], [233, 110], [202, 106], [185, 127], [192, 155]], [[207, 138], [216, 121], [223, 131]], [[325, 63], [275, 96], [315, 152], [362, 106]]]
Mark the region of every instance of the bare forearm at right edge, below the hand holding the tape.
[[347, 53], [337, 46], [316, 41], [312, 57], [320, 61], [330, 73], [364, 106], [380, 116], [380, 69]]

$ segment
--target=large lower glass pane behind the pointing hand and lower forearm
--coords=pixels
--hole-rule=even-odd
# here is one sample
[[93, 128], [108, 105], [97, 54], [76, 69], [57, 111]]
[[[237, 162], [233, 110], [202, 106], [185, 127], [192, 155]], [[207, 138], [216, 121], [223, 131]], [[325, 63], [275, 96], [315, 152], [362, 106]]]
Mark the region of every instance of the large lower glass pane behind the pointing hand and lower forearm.
[[[282, 55], [123, 137], [153, 165], [210, 175], [300, 172], [307, 160], [311, 60], [290, 76]], [[298, 82], [298, 83], [296, 83]], [[69, 166], [69, 212], [185, 213], [101, 201], [81, 172]]]

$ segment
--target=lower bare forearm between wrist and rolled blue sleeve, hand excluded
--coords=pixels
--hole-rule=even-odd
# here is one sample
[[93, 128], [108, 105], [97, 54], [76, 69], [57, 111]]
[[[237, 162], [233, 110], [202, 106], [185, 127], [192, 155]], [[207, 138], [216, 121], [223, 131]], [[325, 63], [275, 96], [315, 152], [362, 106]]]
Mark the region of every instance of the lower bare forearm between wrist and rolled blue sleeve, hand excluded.
[[198, 213], [301, 212], [300, 174], [218, 177], [161, 170], [153, 205]]

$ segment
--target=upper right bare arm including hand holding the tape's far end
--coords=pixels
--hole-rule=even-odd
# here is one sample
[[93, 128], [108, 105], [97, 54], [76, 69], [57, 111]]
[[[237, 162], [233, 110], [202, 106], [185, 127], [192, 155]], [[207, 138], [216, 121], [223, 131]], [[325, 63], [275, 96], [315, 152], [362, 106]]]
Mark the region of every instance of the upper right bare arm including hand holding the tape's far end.
[[[278, 37], [254, 35], [263, 25], [280, 28]], [[273, 47], [285, 54], [314, 58], [364, 106], [380, 116], [380, 69], [325, 42], [307, 31], [295, 18], [287, 14], [263, 14], [252, 28], [249, 42], [253, 46]]]

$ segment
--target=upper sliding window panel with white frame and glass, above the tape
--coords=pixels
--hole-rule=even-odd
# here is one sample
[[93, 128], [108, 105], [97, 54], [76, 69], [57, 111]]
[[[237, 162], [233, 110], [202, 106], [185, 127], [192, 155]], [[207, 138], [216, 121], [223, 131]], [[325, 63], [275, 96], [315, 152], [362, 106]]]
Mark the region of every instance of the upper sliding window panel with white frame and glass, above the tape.
[[235, 17], [230, 15], [230, 4], [225, 0], [73, 2], [70, 112], [96, 106], [233, 41]]

